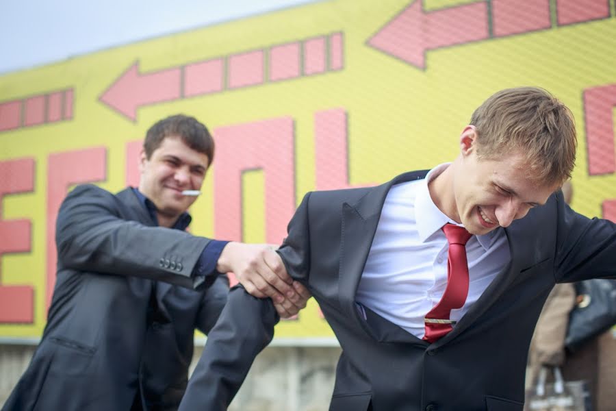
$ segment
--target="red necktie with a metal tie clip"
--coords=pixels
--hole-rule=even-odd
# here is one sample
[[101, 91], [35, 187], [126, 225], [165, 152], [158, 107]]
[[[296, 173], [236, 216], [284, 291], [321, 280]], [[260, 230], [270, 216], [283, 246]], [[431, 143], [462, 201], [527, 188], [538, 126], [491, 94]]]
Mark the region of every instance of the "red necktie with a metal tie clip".
[[455, 321], [449, 319], [450, 311], [462, 308], [468, 295], [468, 263], [466, 242], [471, 234], [464, 227], [446, 224], [443, 232], [449, 242], [447, 256], [447, 286], [441, 301], [426, 314], [426, 335], [424, 340], [434, 343], [451, 331]]

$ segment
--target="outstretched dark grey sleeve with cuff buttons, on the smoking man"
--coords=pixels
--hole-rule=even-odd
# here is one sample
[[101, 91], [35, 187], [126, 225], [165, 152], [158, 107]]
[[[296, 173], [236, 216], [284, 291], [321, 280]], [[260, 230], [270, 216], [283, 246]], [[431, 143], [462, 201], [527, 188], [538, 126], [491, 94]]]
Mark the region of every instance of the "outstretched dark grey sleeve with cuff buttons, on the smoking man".
[[58, 270], [134, 275], [196, 288], [192, 270], [209, 239], [147, 227], [120, 215], [118, 199], [96, 186], [70, 192], [57, 216]]

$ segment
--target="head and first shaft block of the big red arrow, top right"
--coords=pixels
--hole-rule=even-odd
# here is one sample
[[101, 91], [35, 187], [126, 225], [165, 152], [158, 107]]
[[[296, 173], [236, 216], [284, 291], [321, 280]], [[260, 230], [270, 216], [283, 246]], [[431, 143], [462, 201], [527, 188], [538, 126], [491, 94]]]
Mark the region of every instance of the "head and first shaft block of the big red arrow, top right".
[[422, 1], [415, 0], [374, 34], [368, 45], [425, 69], [426, 50], [488, 37], [485, 1], [426, 13]]

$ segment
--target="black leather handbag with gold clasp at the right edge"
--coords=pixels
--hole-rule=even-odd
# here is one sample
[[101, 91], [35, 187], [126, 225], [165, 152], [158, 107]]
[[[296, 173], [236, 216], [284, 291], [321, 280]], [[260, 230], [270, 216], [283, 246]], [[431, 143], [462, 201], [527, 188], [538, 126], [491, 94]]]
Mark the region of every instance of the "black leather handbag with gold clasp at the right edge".
[[616, 324], [616, 280], [587, 279], [576, 283], [578, 304], [569, 314], [565, 347], [574, 352]]

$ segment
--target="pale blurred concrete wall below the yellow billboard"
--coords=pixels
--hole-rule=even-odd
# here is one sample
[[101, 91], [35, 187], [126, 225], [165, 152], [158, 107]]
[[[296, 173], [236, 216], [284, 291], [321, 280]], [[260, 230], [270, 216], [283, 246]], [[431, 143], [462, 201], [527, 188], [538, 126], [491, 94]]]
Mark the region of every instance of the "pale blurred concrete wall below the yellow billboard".
[[[10, 395], [34, 349], [31, 345], [0, 345], [0, 404]], [[191, 372], [201, 349], [195, 349]], [[338, 347], [266, 348], [229, 411], [326, 410], [339, 355]]]

